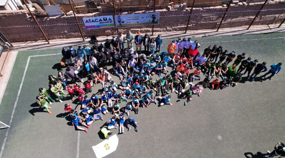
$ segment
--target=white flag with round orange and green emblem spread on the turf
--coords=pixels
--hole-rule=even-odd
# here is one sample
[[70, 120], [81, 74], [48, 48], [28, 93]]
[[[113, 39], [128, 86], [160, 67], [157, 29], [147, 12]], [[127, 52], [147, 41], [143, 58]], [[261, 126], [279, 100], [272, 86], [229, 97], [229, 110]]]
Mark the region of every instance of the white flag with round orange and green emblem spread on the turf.
[[92, 149], [97, 158], [104, 157], [117, 149], [119, 142], [118, 136], [115, 134], [109, 139], [104, 140], [103, 142], [93, 146]]

